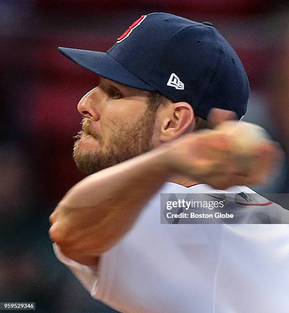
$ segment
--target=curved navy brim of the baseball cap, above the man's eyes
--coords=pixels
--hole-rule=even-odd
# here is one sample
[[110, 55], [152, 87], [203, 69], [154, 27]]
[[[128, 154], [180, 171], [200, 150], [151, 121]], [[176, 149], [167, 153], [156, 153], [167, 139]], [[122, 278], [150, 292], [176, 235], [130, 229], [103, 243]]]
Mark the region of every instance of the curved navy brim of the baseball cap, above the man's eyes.
[[124, 68], [117, 60], [106, 52], [80, 50], [59, 47], [58, 51], [64, 56], [101, 77], [116, 81], [123, 85], [140, 90], [155, 91], [134, 74]]

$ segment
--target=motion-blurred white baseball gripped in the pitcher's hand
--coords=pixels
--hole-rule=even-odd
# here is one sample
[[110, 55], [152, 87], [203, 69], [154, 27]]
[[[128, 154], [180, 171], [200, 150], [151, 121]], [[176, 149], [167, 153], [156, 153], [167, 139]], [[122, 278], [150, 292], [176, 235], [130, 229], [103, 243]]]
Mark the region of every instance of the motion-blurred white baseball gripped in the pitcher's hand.
[[223, 122], [215, 129], [228, 133], [232, 137], [233, 153], [242, 170], [256, 171], [258, 168], [257, 146], [270, 139], [265, 129], [252, 123], [237, 121]]

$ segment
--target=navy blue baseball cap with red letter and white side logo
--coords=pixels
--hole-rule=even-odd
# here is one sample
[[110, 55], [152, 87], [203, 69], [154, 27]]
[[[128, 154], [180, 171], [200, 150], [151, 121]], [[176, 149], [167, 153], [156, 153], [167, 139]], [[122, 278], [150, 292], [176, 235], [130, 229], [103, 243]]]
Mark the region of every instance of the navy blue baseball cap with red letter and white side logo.
[[85, 69], [118, 83], [188, 102], [206, 119], [212, 108], [246, 111], [249, 81], [237, 54], [208, 22], [168, 13], [140, 16], [107, 52], [58, 48]]

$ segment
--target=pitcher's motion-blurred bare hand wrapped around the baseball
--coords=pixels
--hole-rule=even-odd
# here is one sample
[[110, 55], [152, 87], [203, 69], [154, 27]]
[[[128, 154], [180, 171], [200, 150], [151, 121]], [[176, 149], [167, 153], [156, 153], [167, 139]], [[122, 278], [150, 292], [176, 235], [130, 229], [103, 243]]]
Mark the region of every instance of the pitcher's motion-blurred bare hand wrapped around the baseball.
[[237, 162], [233, 143], [232, 136], [217, 130], [191, 133], [168, 143], [162, 162], [170, 171], [215, 189], [265, 183], [280, 158], [277, 145], [264, 140], [252, 153], [246, 153], [247, 162], [258, 164], [247, 172]]

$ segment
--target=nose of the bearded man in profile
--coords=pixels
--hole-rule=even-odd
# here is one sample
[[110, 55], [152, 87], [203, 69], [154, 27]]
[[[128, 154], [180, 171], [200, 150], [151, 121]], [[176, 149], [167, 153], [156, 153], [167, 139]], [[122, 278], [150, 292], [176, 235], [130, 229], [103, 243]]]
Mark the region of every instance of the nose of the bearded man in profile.
[[82, 116], [98, 121], [100, 115], [97, 109], [97, 99], [95, 96], [95, 91], [96, 88], [89, 91], [80, 99], [77, 104], [77, 110]]

